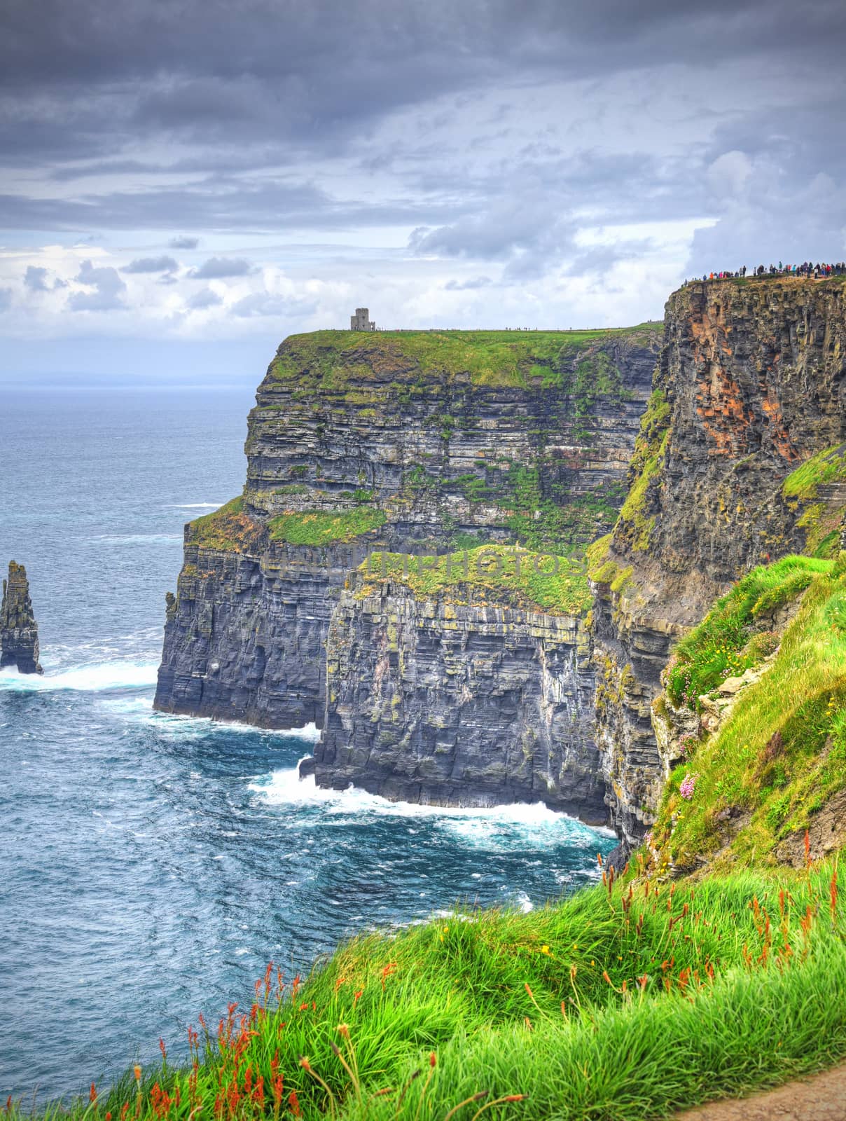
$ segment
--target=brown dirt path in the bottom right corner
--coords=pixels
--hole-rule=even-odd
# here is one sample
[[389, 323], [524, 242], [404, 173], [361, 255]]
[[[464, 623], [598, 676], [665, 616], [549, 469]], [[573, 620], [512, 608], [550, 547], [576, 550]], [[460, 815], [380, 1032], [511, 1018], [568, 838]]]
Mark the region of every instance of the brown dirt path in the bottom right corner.
[[676, 1121], [846, 1121], [846, 1065], [752, 1097], [697, 1105]]

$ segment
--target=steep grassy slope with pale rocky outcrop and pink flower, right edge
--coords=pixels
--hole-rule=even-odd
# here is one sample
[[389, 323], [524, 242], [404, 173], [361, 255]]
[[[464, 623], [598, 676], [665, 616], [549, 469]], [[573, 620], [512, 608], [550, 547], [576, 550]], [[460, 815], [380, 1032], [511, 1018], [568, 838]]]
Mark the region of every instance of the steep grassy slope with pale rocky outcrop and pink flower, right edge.
[[754, 568], [675, 649], [652, 705], [662, 870], [803, 868], [846, 844], [846, 553]]

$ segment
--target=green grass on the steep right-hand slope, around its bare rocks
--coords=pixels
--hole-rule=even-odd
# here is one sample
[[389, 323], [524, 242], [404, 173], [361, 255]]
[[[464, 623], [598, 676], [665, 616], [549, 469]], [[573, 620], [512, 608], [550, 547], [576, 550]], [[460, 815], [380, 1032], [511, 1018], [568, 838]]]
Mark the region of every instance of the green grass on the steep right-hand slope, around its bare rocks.
[[[755, 631], [756, 614], [799, 595], [783, 634]], [[652, 839], [681, 868], [721, 849], [724, 861], [772, 861], [780, 843], [782, 859], [801, 859], [803, 831], [816, 843], [816, 815], [846, 790], [846, 560], [787, 557], [750, 573], [679, 643], [668, 693], [690, 701], [779, 639], [771, 668], [668, 780]]]

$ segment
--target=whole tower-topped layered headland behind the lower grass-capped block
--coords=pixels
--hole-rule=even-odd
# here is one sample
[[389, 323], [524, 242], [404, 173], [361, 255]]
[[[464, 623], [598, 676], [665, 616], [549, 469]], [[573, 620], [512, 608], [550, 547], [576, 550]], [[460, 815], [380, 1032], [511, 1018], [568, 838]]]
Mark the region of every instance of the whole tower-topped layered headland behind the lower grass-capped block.
[[368, 552], [610, 528], [659, 342], [653, 324], [286, 340], [242, 497], [186, 527], [156, 707], [322, 725], [329, 619]]

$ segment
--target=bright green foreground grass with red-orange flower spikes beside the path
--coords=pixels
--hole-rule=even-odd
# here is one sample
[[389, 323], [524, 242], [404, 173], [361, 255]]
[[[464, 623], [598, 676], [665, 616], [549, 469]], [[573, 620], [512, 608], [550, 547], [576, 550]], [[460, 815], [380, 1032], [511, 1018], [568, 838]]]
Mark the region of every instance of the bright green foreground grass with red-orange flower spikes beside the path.
[[[603, 873], [604, 877], [604, 873]], [[604, 877], [605, 879], [605, 877]], [[846, 874], [612, 877], [272, 969], [190, 1058], [40, 1118], [643, 1121], [846, 1055]], [[17, 1121], [28, 1106], [13, 1102]]]

